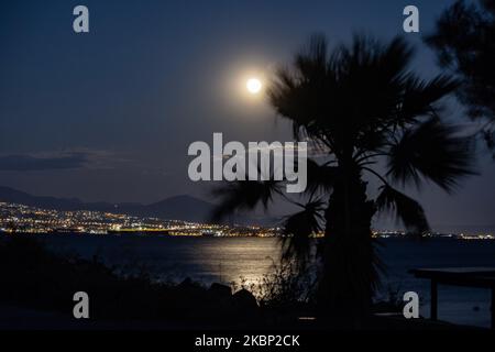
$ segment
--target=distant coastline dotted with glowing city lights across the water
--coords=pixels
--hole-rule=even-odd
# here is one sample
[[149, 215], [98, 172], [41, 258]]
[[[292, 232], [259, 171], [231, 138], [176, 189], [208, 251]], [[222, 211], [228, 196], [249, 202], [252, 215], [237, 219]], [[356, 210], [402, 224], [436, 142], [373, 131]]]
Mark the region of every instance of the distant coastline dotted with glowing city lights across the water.
[[[123, 213], [75, 210], [59, 211], [19, 204], [0, 202], [0, 234], [94, 234], [94, 235], [165, 235], [208, 238], [274, 238], [282, 237], [279, 227], [209, 224], [182, 220], [143, 218]], [[314, 238], [322, 238], [317, 233]], [[399, 230], [374, 230], [373, 238], [405, 238]], [[431, 232], [428, 238], [459, 240], [495, 240], [491, 232]]]

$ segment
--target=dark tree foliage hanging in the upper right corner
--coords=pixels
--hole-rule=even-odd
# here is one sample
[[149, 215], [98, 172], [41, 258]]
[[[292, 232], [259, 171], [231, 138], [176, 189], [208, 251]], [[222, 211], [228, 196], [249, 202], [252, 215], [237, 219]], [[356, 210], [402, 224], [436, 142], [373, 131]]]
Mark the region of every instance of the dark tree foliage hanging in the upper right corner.
[[495, 158], [495, 1], [455, 1], [426, 43], [439, 65], [460, 79], [457, 96]]

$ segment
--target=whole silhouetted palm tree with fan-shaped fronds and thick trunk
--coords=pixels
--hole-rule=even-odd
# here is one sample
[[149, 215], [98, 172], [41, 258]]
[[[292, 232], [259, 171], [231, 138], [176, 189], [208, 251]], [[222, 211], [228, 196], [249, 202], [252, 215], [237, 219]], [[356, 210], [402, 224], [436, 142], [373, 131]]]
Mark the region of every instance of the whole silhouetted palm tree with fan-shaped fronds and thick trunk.
[[[402, 38], [384, 45], [364, 36], [329, 54], [326, 37], [314, 35], [268, 90], [294, 138], [324, 155], [308, 160], [309, 201], [295, 202], [273, 180], [217, 190], [222, 201], [216, 219], [235, 209], [266, 208], [277, 195], [300, 206], [284, 223], [284, 254], [299, 262], [307, 260], [311, 234], [324, 230], [318, 295], [323, 317], [358, 321], [369, 312], [378, 283], [371, 231], [377, 211], [393, 211], [409, 232], [429, 230], [421, 206], [394, 184], [431, 180], [450, 193], [460, 177], [473, 174], [470, 141], [440, 118], [439, 100], [457, 81], [420, 79], [408, 69], [413, 54]], [[364, 174], [382, 185], [375, 199], [369, 198]]]

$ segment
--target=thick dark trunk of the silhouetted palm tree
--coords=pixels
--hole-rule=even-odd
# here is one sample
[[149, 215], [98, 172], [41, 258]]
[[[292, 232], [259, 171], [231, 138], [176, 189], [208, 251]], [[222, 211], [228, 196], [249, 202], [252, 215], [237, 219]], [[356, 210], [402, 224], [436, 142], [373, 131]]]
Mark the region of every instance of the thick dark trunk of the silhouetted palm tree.
[[320, 312], [332, 321], [354, 326], [370, 312], [376, 280], [366, 183], [359, 169], [342, 173], [326, 211]]

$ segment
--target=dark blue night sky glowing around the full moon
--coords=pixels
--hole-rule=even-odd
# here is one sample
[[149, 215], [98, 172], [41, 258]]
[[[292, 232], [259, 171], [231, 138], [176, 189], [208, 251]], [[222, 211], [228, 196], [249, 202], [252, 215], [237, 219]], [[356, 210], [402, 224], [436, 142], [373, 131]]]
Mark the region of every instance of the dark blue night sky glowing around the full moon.
[[[315, 31], [334, 44], [356, 31], [404, 34], [407, 4], [419, 8], [428, 33], [450, 3], [3, 1], [0, 185], [85, 200], [205, 198], [207, 185], [187, 180], [191, 142], [209, 142], [213, 132], [242, 142], [289, 140], [266, 103], [238, 92], [246, 73], [268, 75], [288, 63]], [[77, 4], [89, 8], [88, 34], [73, 32]], [[420, 36], [406, 36], [418, 45], [415, 68], [438, 73]], [[487, 158], [481, 165], [483, 175], [455, 196], [433, 187], [417, 195], [432, 223], [495, 222], [495, 166]]]

